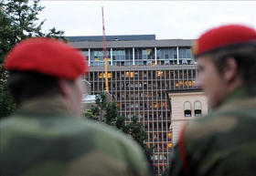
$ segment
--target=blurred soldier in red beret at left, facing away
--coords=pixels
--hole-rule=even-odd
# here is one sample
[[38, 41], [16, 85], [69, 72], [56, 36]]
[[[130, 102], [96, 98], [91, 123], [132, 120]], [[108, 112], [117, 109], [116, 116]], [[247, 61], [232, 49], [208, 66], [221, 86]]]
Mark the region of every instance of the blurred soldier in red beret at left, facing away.
[[0, 121], [2, 176], [148, 175], [141, 148], [119, 131], [81, 120], [82, 75], [76, 49], [37, 37], [5, 58], [18, 109]]

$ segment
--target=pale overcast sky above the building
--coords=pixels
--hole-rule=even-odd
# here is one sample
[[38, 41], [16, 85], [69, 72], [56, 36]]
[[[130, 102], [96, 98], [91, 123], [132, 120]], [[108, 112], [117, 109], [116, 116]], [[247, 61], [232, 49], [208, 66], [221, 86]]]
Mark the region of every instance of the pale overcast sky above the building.
[[106, 35], [150, 35], [156, 39], [197, 38], [227, 23], [256, 28], [256, 1], [41, 1], [47, 19], [65, 36], [101, 36], [101, 6]]

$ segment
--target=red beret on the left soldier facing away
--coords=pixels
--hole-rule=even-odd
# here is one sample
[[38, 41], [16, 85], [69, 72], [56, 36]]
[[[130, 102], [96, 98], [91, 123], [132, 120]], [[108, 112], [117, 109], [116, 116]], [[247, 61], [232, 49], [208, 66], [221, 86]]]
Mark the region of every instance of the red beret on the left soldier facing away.
[[21, 41], [5, 57], [6, 70], [35, 71], [56, 78], [75, 79], [88, 71], [85, 57], [64, 42], [47, 37]]

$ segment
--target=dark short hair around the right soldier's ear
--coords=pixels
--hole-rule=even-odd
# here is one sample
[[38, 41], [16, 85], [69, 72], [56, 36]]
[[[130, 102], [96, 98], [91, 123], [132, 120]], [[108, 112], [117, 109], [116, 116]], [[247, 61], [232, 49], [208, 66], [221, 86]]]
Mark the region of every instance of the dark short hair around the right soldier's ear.
[[256, 84], [256, 45], [246, 47], [230, 47], [219, 50], [208, 55], [218, 68], [219, 73], [223, 73], [227, 58], [233, 57], [238, 66], [238, 74], [245, 83]]

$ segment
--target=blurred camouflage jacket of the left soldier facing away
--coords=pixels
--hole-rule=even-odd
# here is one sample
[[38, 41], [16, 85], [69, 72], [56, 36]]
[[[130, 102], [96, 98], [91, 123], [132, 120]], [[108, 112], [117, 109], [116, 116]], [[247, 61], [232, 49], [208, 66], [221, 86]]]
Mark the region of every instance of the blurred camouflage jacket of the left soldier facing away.
[[1, 176], [144, 176], [143, 150], [106, 125], [72, 118], [59, 99], [27, 102], [0, 121]]

